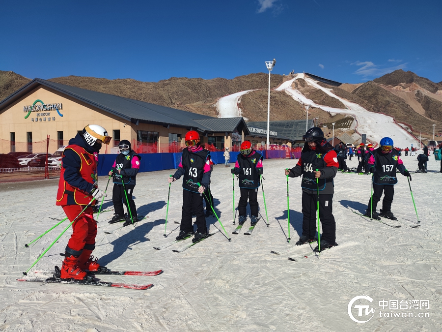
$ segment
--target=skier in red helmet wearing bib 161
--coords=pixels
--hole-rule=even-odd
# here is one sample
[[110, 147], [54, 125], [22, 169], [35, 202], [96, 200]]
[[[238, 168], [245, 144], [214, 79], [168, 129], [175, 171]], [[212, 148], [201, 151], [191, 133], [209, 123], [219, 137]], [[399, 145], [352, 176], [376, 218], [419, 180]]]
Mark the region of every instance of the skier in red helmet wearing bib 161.
[[232, 174], [239, 175], [241, 197], [238, 203], [238, 223], [244, 224], [247, 219], [247, 201], [250, 204], [250, 225], [258, 222], [258, 188], [259, 176], [263, 173], [262, 154], [251, 148], [249, 141], [241, 144], [235, 167], [230, 170]]

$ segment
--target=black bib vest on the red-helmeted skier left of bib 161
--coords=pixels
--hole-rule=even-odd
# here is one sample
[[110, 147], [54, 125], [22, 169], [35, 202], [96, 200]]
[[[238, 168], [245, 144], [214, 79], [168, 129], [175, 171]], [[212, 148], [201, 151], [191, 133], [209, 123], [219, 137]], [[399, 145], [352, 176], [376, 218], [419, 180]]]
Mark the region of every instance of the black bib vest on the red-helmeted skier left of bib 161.
[[191, 152], [187, 149], [183, 150], [181, 155], [181, 165], [184, 168], [183, 188], [189, 191], [198, 192], [198, 183], [204, 174], [204, 165], [207, 160], [210, 160], [210, 152], [201, 150], [198, 152]]

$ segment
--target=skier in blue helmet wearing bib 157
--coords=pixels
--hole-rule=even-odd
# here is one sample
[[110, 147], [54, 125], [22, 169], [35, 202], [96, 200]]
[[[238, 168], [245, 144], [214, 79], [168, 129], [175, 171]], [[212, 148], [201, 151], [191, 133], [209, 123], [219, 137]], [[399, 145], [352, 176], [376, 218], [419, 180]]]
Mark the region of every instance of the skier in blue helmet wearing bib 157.
[[[365, 215], [375, 219], [380, 219], [379, 216], [383, 216], [395, 220], [396, 218], [391, 212], [391, 203], [393, 202], [394, 184], [397, 183], [396, 168], [403, 176], [409, 177], [410, 180], [411, 175], [405, 169], [398, 152], [393, 149], [391, 138], [384, 137], [380, 142], [380, 147], [371, 153], [372, 155], [368, 160], [368, 170], [373, 174], [373, 197], [368, 201]], [[381, 200], [382, 192], [384, 192], [382, 209], [380, 213], [377, 213], [376, 207]]]

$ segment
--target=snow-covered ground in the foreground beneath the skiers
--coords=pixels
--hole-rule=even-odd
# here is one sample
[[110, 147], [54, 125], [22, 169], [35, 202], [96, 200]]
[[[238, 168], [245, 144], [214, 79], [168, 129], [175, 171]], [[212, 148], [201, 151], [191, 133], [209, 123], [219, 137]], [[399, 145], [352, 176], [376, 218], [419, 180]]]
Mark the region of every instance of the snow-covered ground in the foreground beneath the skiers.
[[[408, 169], [417, 168], [415, 157], [402, 159]], [[399, 219], [385, 220], [402, 227], [392, 228], [351, 211], [366, 208], [369, 176], [337, 174], [333, 213], [339, 246], [324, 251], [320, 257], [312, 254], [309, 245], [295, 246], [302, 225], [300, 178], [289, 180], [292, 241], [286, 241], [283, 172], [295, 163], [288, 159], [264, 161], [270, 227], [260, 220], [251, 236], [231, 234], [232, 176], [229, 168], [216, 165], [212, 174], [216, 211], [232, 241], [228, 242], [221, 230], [182, 253], [172, 252], [178, 245], [153, 249], [178, 234], [179, 225], [173, 221], [180, 220], [181, 215], [180, 181], [171, 187], [167, 224], [170, 235], [165, 239], [166, 181], [172, 171], [138, 174], [135, 202], [138, 212], [148, 213], [149, 218], [135, 227], [119, 228], [121, 224], [107, 222], [112, 211], [102, 213], [94, 255], [113, 270], [164, 269], [155, 277], [101, 276], [105, 281], [153, 282], [154, 287], [145, 291], [16, 281], [67, 224], [25, 248], [25, 243], [58, 222], [51, 218], [64, 217], [61, 208], [55, 206], [57, 181], [0, 184], [0, 330], [441, 331], [440, 163], [431, 156], [428, 174], [412, 173], [419, 228], [410, 227], [416, 223], [416, 214], [405, 177], [399, 174], [392, 205]], [[356, 167], [357, 160], [347, 163]], [[104, 188], [106, 181], [107, 177], [100, 178], [100, 187]], [[111, 186], [108, 191], [111, 193]], [[235, 193], [237, 204], [238, 187]], [[261, 193], [258, 197], [265, 216]], [[110, 196], [104, 207], [112, 208]], [[221, 229], [215, 218], [208, 222], [210, 230]], [[29, 277], [33, 271], [50, 271], [61, 264], [59, 253], [64, 252], [69, 236], [70, 231], [55, 243]], [[271, 250], [288, 252], [275, 255]], [[308, 258], [303, 259], [303, 255]], [[289, 256], [299, 261], [289, 261]], [[374, 316], [359, 324], [350, 319], [348, 305], [363, 295], [373, 302], [354, 302], [350, 306], [352, 315], [361, 321]], [[426, 300], [429, 309], [420, 308], [425, 302], [419, 301]], [[417, 309], [412, 301], [417, 301]], [[387, 307], [382, 308], [380, 304], [385, 303]], [[395, 303], [402, 308], [393, 309]], [[359, 317], [355, 305], [369, 305], [369, 311], [375, 309], [374, 314], [366, 316], [362, 310]], [[405, 305], [407, 309], [403, 308]], [[410, 314], [407, 318], [385, 318], [380, 317], [381, 312], [412, 313], [414, 318]], [[428, 313], [429, 317], [420, 318], [419, 313]]]

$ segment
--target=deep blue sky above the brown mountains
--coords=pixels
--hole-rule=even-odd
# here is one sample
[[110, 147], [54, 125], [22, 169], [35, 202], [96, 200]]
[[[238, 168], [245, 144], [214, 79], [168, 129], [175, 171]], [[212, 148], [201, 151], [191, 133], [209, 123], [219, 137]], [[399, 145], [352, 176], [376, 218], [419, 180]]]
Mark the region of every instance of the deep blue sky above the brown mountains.
[[3, 1], [0, 70], [156, 82], [309, 72], [442, 81], [442, 0]]

